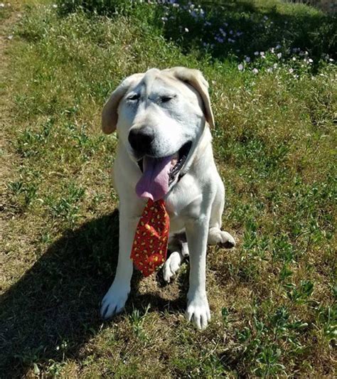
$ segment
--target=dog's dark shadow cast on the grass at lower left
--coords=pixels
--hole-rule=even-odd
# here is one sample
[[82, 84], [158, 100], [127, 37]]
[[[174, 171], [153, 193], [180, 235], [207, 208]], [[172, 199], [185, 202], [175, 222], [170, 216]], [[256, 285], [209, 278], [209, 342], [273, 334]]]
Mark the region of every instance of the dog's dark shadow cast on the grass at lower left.
[[[67, 231], [0, 299], [0, 377], [18, 378], [33, 363], [75, 358], [105, 324], [99, 304], [112, 282], [118, 256], [118, 211]], [[141, 295], [132, 279], [126, 311], [181, 311], [184, 300]], [[117, 316], [114, 322], [122, 317]], [[63, 348], [66, 343], [66, 348]]]

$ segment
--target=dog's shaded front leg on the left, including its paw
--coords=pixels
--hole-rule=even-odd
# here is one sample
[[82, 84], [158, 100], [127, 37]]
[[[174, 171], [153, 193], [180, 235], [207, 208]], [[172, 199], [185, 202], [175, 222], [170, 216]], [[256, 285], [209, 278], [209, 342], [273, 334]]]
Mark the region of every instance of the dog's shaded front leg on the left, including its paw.
[[114, 282], [102, 299], [100, 314], [109, 319], [124, 309], [130, 292], [133, 263], [130, 259], [132, 240], [139, 218], [130, 217], [128, 209], [119, 206], [119, 255]]

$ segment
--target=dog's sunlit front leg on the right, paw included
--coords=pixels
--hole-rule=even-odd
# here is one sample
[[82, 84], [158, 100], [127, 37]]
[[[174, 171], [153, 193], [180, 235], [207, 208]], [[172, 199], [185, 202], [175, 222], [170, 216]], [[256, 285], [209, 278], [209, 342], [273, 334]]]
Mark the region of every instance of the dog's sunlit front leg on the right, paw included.
[[210, 308], [205, 288], [208, 223], [209, 215], [205, 215], [186, 225], [190, 251], [190, 287], [187, 294], [186, 316], [198, 329], [205, 329], [210, 321]]

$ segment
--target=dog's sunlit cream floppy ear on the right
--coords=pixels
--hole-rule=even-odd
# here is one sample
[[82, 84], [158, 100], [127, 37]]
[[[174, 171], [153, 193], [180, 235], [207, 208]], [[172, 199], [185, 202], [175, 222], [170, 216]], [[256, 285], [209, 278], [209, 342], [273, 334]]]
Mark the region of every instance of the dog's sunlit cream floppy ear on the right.
[[210, 127], [214, 127], [212, 107], [210, 107], [210, 95], [208, 94], [208, 82], [199, 70], [186, 67], [173, 67], [167, 70], [174, 77], [194, 87], [200, 94], [205, 107], [205, 118]]

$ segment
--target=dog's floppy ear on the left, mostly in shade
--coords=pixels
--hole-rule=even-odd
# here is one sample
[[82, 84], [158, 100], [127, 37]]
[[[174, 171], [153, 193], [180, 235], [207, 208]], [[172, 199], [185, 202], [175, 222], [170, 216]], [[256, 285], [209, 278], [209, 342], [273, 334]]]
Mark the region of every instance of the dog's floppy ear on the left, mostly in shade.
[[144, 74], [134, 74], [128, 76], [122, 83], [112, 92], [109, 100], [105, 103], [102, 110], [102, 131], [110, 134], [116, 130], [118, 121], [118, 105], [122, 97], [125, 95], [130, 85], [137, 80], [141, 80]]

